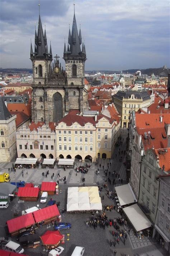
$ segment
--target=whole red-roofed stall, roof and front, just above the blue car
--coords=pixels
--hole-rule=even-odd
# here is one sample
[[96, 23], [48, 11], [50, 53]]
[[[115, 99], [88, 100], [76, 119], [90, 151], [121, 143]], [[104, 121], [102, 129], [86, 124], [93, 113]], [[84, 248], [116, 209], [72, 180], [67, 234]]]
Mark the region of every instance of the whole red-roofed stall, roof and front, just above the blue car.
[[56, 205], [45, 207], [33, 212], [34, 220], [38, 226], [45, 225], [51, 221], [61, 222], [61, 214]]

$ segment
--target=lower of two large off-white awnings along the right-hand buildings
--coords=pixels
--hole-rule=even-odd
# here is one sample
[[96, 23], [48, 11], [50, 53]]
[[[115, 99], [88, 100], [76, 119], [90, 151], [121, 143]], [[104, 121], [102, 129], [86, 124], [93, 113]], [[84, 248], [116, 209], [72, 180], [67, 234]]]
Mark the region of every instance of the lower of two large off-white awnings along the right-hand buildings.
[[131, 205], [123, 208], [124, 213], [131, 221], [136, 231], [149, 228], [152, 223], [148, 220], [146, 215], [142, 212], [141, 208], [137, 205]]

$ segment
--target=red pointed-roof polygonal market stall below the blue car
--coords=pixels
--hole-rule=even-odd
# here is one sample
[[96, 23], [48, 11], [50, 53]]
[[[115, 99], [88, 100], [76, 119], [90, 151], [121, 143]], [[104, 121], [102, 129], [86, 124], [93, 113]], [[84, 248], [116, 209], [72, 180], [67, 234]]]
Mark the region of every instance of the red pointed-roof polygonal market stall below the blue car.
[[40, 238], [43, 246], [48, 250], [56, 248], [60, 243], [64, 243], [64, 235], [58, 230], [47, 230]]

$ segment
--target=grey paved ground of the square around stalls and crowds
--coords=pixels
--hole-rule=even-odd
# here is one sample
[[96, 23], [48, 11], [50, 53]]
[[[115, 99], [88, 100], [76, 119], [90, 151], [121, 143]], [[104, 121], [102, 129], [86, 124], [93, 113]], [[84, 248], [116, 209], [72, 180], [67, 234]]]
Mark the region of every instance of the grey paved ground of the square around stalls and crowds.
[[[78, 173], [76, 176], [75, 169], [66, 169], [64, 171], [63, 169], [16, 169], [16, 173], [10, 171], [10, 178], [11, 180], [24, 180], [26, 182], [29, 182], [29, 180], [34, 180], [34, 184], [41, 184], [42, 181], [57, 181], [57, 175], [60, 173], [61, 178], [66, 176], [67, 184], [64, 185], [63, 181], [59, 183], [59, 187], [61, 189], [61, 193], [55, 196], [52, 196], [53, 199], [56, 201], [60, 201], [60, 207], [59, 210], [61, 211], [63, 208], [66, 208], [66, 201], [67, 201], [67, 188], [73, 187], [73, 186], [82, 186], [82, 178], [85, 178], [85, 185], [97, 185], [97, 182], [100, 181], [100, 185], [104, 183], [104, 180], [108, 177], [105, 177], [103, 172], [103, 166], [104, 169], [107, 169], [107, 165], [109, 162], [109, 171], [112, 174], [112, 171], [115, 170], [119, 175], [120, 178], [123, 179], [123, 184], [126, 184], [126, 170], [123, 165], [123, 162], [125, 161], [125, 155], [122, 154], [122, 162], [119, 162], [119, 154], [118, 150], [121, 148], [121, 151], [124, 151], [126, 149], [126, 136], [127, 136], [127, 130], [123, 130], [121, 132], [121, 136], [123, 138], [123, 145], [122, 147], [116, 147], [114, 156], [112, 160], [99, 160], [97, 164], [92, 163], [91, 168], [89, 169], [87, 174], [81, 174]], [[115, 154], [117, 154], [117, 158], [115, 157]], [[110, 165], [111, 163], [111, 165]], [[77, 163], [77, 166], [83, 165], [83, 163]], [[101, 164], [101, 167], [99, 165]], [[0, 163], [0, 171], [8, 172], [8, 168], [12, 166], [12, 163]], [[96, 175], [95, 170], [99, 168], [99, 175]], [[24, 177], [22, 176], [22, 170], [24, 171]], [[26, 171], [28, 170], [28, 174]], [[45, 176], [42, 176], [42, 172], [46, 174], [47, 170], [49, 170], [49, 175], [47, 178]], [[54, 172], [54, 178], [51, 179], [51, 175]], [[112, 175], [110, 174], [110, 179], [113, 180]], [[116, 178], [115, 178], [116, 179]], [[117, 178], [116, 180], [116, 186], [121, 185], [121, 181]], [[108, 185], [108, 189], [111, 191], [114, 191], [115, 185]], [[101, 196], [104, 196], [104, 200], [102, 200], [102, 205], [111, 205], [115, 204], [114, 201], [110, 200], [107, 197], [106, 189], [103, 188], [101, 192]], [[11, 203], [8, 209], [1, 210], [1, 223], [0, 223], [0, 236], [5, 235], [5, 221], [8, 219], [11, 219], [12, 217], [12, 211], [14, 204], [17, 204], [17, 198]], [[37, 202], [25, 202], [18, 204], [20, 207], [20, 210], [24, 210], [24, 208], [32, 207], [36, 205]], [[40, 206], [42, 207], [42, 205]], [[120, 217], [117, 210], [108, 211], [106, 212], [108, 219], [114, 219], [117, 217]], [[4, 220], [4, 222], [2, 221]], [[143, 239], [138, 239], [133, 229], [131, 229], [130, 233], [128, 234], [128, 238], [126, 241], [126, 244], [123, 244], [122, 239], [120, 239], [120, 244], [116, 244], [115, 248], [114, 246], [110, 247], [110, 239], [114, 241], [114, 237], [112, 236], [112, 230], [114, 230], [112, 227], [106, 227], [104, 230], [103, 228], [96, 228], [94, 230], [93, 227], [87, 228], [85, 225], [86, 220], [91, 219], [90, 213], [78, 213], [78, 214], [69, 214], [66, 213], [66, 215], [62, 216], [62, 221], [70, 222], [72, 224], [72, 228], [70, 230], [62, 230], [62, 234], [65, 234], [65, 244], [63, 244], [63, 247], [65, 248], [65, 251], [62, 253], [63, 256], [70, 256], [72, 251], [74, 250], [74, 246], [84, 246], [85, 247], [85, 253], [84, 256], [112, 256], [114, 255], [114, 250], [117, 251], [116, 256], [163, 256], [168, 255], [166, 251], [160, 247], [159, 244], [157, 244], [156, 241], [154, 241], [151, 237], [145, 237]], [[131, 225], [128, 223], [127, 226], [122, 226], [121, 229], [127, 230], [128, 227], [131, 227]], [[43, 226], [41, 229], [39, 229], [39, 233], [44, 233], [47, 226]], [[50, 228], [52, 230], [52, 227]], [[70, 240], [67, 241], [67, 233], [70, 234]], [[40, 255], [40, 252], [43, 253], [43, 255], [48, 255], [48, 252], [42, 251], [42, 246], [39, 246], [37, 249], [26, 249], [25, 253], [28, 255]]]

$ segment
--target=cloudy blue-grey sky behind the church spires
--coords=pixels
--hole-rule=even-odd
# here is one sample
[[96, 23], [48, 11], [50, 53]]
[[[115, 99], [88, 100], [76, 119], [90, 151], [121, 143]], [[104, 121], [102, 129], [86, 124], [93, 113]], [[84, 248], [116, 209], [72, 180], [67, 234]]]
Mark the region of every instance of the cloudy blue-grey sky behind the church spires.
[[[64, 67], [64, 38], [67, 42], [74, 2], [85, 39], [86, 70], [170, 67], [169, 0], [40, 0], [48, 45], [51, 40], [53, 56], [57, 53]], [[0, 0], [0, 5], [0, 67], [31, 68], [38, 0]]]

